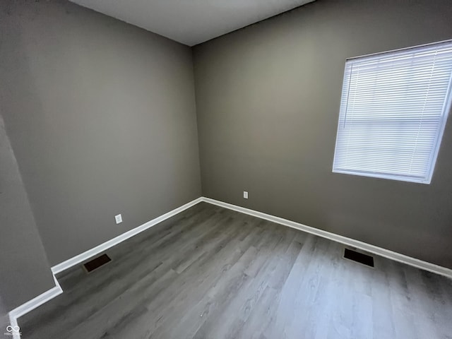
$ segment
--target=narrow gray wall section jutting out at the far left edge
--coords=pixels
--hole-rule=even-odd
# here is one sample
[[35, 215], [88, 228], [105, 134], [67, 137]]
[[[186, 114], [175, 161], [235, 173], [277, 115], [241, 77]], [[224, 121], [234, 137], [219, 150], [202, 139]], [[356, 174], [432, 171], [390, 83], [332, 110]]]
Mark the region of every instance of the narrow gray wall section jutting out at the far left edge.
[[[55, 285], [1, 114], [0, 208], [1, 320]], [[4, 329], [0, 327], [0, 333]]]

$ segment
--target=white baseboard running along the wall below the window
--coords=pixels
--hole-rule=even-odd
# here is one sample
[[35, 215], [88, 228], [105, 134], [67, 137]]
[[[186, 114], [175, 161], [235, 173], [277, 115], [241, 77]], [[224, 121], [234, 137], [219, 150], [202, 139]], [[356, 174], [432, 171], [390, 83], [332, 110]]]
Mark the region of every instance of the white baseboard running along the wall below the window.
[[447, 278], [452, 278], [452, 270], [450, 268], [445, 268], [445, 267], [442, 267], [439, 265], [435, 265], [434, 263], [428, 263], [427, 261], [422, 261], [417, 258], [405, 256], [404, 254], [390, 251], [388, 249], [383, 249], [379, 246], [367, 244], [366, 242], [360, 242], [359, 240], [351, 239], [348, 237], [343, 237], [342, 235], [334, 234], [331, 232], [319, 230], [318, 228], [303, 225], [303, 224], [300, 224], [299, 222], [276, 217], [275, 215], [270, 215], [270, 214], [266, 214], [263, 212], [258, 212], [257, 210], [251, 210], [249, 208], [232, 205], [231, 203], [225, 203], [223, 201], [218, 201], [218, 200], [215, 200], [212, 198], [203, 197], [202, 201], [204, 201], [206, 203], [211, 203], [213, 205], [221, 206], [224, 208], [228, 208], [230, 210], [235, 210], [240, 213], [252, 215], [254, 217], [265, 219], [265, 220], [268, 220], [271, 222], [276, 222], [280, 225], [292, 227], [297, 230], [301, 230], [303, 232], [315, 234], [319, 237], [330, 239], [330, 240], [333, 240], [334, 242], [339, 242], [340, 244], [345, 244], [347, 246], [352, 246], [357, 249], [362, 249], [363, 251], [367, 251], [369, 253], [376, 254], [378, 256], [383, 256], [383, 257], [391, 259], [393, 261], [405, 263], [407, 265], [410, 265], [410, 266], [413, 266], [416, 268], [420, 268], [422, 270], [428, 270], [429, 272], [432, 272], [432, 273], [444, 275]]

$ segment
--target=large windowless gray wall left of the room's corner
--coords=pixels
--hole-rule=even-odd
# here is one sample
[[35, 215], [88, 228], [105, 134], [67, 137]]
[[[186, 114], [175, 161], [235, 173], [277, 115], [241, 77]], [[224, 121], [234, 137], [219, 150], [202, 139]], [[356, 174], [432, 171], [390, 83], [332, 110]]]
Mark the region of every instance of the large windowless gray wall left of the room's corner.
[[201, 196], [189, 47], [0, 1], [0, 109], [52, 266]]

